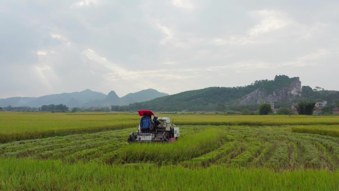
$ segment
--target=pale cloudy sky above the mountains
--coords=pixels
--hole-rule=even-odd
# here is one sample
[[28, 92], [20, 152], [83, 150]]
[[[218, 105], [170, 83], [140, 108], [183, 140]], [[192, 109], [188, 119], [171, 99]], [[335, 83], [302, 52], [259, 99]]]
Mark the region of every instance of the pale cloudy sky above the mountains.
[[244, 86], [339, 90], [338, 0], [0, 0], [0, 98]]

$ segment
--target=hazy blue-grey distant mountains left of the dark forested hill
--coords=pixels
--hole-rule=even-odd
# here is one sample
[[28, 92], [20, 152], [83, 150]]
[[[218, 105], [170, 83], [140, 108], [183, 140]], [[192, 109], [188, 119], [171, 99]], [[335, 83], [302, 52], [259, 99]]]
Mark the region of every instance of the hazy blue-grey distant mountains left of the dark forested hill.
[[45, 95], [41, 97], [12, 97], [0, 99], [0, 106], [20, 107], [41, 107], [42, 105], [64, 104], [73, 107], [105, 107], [111, 105], [128, 105], [135, 102], [144, 102], [168, 94], [155, 89], [145, 89], [135, 93], [129, 93], [123, 97], [118, 97], [114, 91], [108, 95], [86, 89], [81, 92], [61, 93]]

